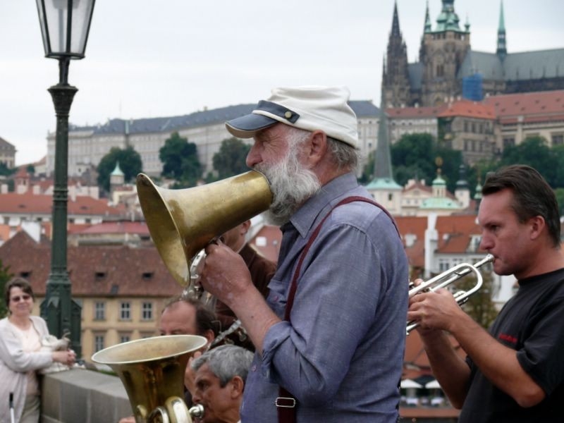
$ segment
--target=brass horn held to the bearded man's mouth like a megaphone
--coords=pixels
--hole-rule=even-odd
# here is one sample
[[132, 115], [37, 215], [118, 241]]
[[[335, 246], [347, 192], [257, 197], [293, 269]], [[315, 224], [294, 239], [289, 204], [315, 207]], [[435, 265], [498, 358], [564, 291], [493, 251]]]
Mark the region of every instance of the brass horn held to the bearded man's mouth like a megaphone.
[[158, 188], [140, 173], [137, 195], [161, 259], [185, 290], [197, 253], [272, 202], [269, 182], [257, 171], [183, 190]]

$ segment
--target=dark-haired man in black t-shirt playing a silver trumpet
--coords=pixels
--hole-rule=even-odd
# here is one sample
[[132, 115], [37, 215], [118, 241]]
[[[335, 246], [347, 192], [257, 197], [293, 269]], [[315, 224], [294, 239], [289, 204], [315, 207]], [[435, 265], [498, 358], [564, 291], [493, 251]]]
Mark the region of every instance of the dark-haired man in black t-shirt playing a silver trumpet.
[[486, 178], [478, 220], [480, 247], [496, 274], [515, 276], [515, 296], [489, 332], [447, 290], [413, 295], [407, 319], [419, 323], [436, 379], [462, 408], [458, 422], [561, 422], [564, 256], [554, 192], [534, 168], [502, 168]]

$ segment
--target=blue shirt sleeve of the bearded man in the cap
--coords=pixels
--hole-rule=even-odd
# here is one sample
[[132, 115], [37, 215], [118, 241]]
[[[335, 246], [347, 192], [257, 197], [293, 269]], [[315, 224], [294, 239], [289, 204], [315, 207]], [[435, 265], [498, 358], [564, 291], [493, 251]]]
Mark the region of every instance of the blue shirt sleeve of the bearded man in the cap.
[[[381, 238], [386, 236], [391, 235]], [[382, 289], [381, 247], [346, 224], [324, 228], [312, 244], [298, 279], [291, 323], [281, 321], [266, 334], [260, 369], [300, 402], [326, 402], [348, 372], [374, 322]]]

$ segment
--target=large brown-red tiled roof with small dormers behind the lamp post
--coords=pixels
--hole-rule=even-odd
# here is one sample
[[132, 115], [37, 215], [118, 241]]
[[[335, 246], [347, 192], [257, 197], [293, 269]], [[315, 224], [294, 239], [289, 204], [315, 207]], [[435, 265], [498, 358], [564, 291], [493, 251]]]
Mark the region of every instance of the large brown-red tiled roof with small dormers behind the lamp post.
[[[25, 255], [22, 252], [25, 251]], [[37, 295], [45, 294], [50, 272], [50, 243], [35, 243], [20, 231], [0, 246], [0, 259], [11, 274], [30, 281]], [[68, 274], [73, 295], [151, 296], [179, 295], [176, 283], [154, 247], [68, 246]]]

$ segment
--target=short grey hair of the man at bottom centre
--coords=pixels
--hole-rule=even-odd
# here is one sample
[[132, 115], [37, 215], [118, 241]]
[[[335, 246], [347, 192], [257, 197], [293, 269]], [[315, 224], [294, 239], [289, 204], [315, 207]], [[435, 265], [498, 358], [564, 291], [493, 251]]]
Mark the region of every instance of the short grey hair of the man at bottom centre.
[[220, 345], [200, 355], [192, 362], [192, 369], [200, 369], [204, 364], [209, 371], [219, 379], [219, 386], [223, 388], [235, 376], [240, 376], [243, 382], [251, 367], [253, 354], [238, 345]]

